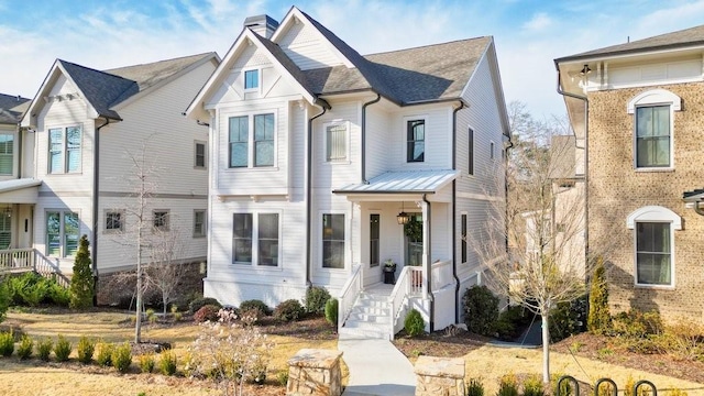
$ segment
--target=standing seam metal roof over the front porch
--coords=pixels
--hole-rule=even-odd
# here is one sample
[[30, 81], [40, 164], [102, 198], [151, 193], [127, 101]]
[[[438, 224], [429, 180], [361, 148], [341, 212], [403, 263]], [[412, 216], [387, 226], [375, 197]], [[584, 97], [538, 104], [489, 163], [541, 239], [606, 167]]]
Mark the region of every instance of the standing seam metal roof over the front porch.
[[386, 172], [369, 180], [332, 190], [334, 194], [435, 194], [450, 184], [459, 170]]

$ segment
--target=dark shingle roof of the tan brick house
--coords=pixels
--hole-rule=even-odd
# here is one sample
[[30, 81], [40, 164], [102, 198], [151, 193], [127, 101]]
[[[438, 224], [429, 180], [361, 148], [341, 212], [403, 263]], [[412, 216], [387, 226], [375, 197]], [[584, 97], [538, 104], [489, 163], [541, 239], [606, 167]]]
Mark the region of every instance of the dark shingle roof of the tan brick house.
[[704, 45], [704, 25], [565, 56], [556, 59], [556, 63], [578, 61], [595, 56], [623, 55], [646, 51], [688, 47], [693, 45]]

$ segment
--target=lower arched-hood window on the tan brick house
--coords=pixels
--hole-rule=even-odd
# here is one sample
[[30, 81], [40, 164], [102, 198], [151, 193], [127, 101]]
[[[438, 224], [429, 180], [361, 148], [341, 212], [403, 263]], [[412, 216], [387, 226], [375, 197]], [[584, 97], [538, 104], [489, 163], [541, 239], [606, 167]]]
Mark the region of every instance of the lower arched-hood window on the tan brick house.
[[674, 230], [682, 229], [681, 218], [672, 210], [648, 206], [626, 219], [634, 230], [635, 284], [674, 286]]

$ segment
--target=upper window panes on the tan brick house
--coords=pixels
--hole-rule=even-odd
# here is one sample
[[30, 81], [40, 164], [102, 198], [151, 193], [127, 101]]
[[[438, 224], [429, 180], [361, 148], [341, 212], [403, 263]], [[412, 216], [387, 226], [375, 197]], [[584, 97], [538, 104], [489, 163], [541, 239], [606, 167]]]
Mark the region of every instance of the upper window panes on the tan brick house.
[[670, 106], [636, 108], [636, 167], [670, 166]]

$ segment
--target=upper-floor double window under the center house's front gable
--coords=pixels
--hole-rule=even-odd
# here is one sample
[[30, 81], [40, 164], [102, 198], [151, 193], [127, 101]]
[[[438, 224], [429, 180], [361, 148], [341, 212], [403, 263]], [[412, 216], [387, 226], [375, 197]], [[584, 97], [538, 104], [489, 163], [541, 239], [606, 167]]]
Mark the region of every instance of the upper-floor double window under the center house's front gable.
[[229, 167], [274, 166], [275, 140], [274, 113], [231, 117], [228, 140]]

